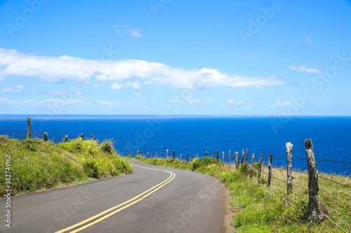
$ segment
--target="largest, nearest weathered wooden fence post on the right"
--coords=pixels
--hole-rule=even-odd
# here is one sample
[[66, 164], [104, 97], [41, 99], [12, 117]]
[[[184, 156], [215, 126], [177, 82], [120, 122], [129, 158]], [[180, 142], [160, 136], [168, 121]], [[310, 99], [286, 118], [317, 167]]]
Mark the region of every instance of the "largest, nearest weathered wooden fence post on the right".
[[308, 169], [308, 213], [314, 222], [319, 221], [319, 204], [318, 204], [318, 169], [314, 160], [314, 149], [312, 139], [305, 140], [305, 149]]

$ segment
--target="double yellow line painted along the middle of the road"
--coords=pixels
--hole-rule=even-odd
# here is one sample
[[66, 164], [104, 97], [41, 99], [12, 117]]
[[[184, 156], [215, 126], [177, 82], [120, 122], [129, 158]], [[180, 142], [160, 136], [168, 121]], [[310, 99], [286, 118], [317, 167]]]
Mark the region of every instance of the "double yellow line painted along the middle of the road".
[[[140, 166], [137, 166], [137, 165], [133, 165], [134, 167], [140, 167]], [[150, 169], [150, 168], [147, 168], [147, 167], [140, 167], [140, 168], [143, 168], [143, 169]], [[161, 169], [150, 169], [150, 170], [157, 170], [157, 171], [166, 171], [166, 170], [161, 170]], [[63, 230], [60, 230], [58, 232], [55, 232], [55, 233], [62, 233], [62, 232], [67, 232], [69, 230], [72, 230], [76, 227], [79, 227], [81, 225], [83, 225], [82, 227], [79, 227], [78, 229], [76, 230], [73, 230], [72, 232], [70, 233], [74, 233], [74, 232], [80, 232], [81, 230], [84, 230], [86, 229], [87, 227], [90, 227], [91, 225], [94, 225], [96, 223], [99, 223], [100, 221], [110, 217], [110, 216], [113, 216], [115, 213], [118, 213], [119, 211], [122, 211], [126, 208], [128, 208], [129, 206], [133, 206], [133, 204], [135, 203], [138, 203], [140, 202], [141, 200], [143, 200], [145, 197], [151, 195], [152, 193], [156, 192], [157, 190], [159, 190], [160, 188], [164, 187], [164, 185], [170, 183], [175, 177], [176, 177], [176, 174], [174, 174], [172, 171], [166, 171], [168, 172], [169, 174], [171, 174], [165, 181], [159, 183], [158, 185], [154, 185], [154, 187], [150, 188], [149, 190], [146, 190], [145, 192], [143, 193], [140, 193], [140, 195], [136, 196], [136, 197], [133, 197], [132, 199], [129, 199], [128, 201], [126, 202], [123, 202], [122, 204], [119, 204], [117, 206], [114, 206], [110, 209], [107, 209], [106, 211], [103, 211], [101, 213], [98, 213], [97, 215], [91, 217], [91, 218], [88, 218], [84, 221], [81, 221], [80, 223], [77, 223], [75, 225], [72, 225], [70, 227], [67, 227]], [[131, 203], [130, 203], [131, 202]], [[129, 203], [129, 204], [128, 204]], [[122, 206], [122, 207], [121, 207]], [[121, 207], [121, 208], [119, 208]], [[112, 211], [112, 212], [111, 212]], [[111, 213], [109, 213], [111, 212]], [[108, 213], [108, 214], [106, 214]], [[106, 214], [106, 215], [105, 215]], [[105, 215], [105, 216], [104, 216]], [[102, 216], [102, 217], [100, 217]], [[100, 218], [99, 218], [100, 217]], [[95, 218], [97, 218], [96, 220], [94, 220]], [[93, 222], [91, 222], [92, 220], [94, 220]], [[91, 222], [91, 223], [88, 223], [88, 222]], [[86, 224], [87, 223], [87, 224]]]

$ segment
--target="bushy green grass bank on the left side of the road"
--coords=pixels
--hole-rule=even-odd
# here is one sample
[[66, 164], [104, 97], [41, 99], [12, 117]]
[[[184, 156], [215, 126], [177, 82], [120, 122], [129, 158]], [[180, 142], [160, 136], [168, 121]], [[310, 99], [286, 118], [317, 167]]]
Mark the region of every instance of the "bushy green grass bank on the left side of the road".
[[0, 136], [0, 195], [6, 193], [6, 155], [11, 155], [12, 195], [71, 183], [128, 174], [131, 163], [110, 148], [81, 138], [55, 144], [39, 139], [7, 139]]

